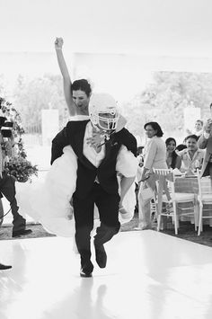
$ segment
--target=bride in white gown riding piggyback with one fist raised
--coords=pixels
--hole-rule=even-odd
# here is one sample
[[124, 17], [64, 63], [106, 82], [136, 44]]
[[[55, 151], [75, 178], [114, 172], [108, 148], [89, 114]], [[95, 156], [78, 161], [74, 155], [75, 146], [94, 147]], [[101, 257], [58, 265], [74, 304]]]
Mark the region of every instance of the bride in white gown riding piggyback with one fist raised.
[[[57, 60], [64, 79], [64, 93], [70, 120], [89, 120], [88, 104], [92, 95], [90, 84], [84, 80], [76, 80], [71, 83], [66, 68], [66, 62], [62, 53], [63, 40], [57, 39], [55, 47]], [[99, 102], [107, 101], [107, 94], [99, 95]], [[124, 127], [126, 120], [119, 117], [116, 132]], [[101, 136], [96, 131], [93, 139], [88, 141], [91, 146], [101, 142]], [[119, 179], [119, 221], [128, 222], [134, 215], [136, 205], [136, 194], [134, 180], [137, 174], [137, 158], [121, 146], [117, 158], [116, 170]], [[77, 171], [77, 158], [71, 146], [63, 149], [49, 169], [49, 173], [43, 182], [32, 182], [28, 185], [16, 187], [16, 197], [20, 212], [27, 213], [35, 221], [39, 221], [49, 233], [62, 236], [75, 234], [75, 221], [73, 208], [70, 201], [75, 192], [75, 181]], [[72, 176], [72, 178], [70, 178]], [[124, 178], [123, 178], [124, 176]], [[98, 224], [98, 210], [95, 209], [95, 221]]]

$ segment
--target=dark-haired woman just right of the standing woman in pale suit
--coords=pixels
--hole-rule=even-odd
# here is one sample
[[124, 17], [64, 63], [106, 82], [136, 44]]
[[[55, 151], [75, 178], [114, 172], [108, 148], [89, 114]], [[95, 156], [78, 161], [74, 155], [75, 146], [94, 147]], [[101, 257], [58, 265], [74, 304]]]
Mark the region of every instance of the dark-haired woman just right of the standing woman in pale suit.
[[165, 140], [166, 145], [166, 164], [168, 168], [181, 168], [181, 156], [175, 152], [176, 140], [173, 137], [169, 137]]

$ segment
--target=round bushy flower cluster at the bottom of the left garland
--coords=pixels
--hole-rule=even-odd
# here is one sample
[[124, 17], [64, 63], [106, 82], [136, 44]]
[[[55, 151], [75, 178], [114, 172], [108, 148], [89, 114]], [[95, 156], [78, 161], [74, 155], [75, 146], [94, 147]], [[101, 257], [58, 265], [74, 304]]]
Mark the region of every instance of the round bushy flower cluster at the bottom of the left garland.
[[4, 164], [4, 170], [17, 182], [31, 182], [31, 175], [38, 176], [37, 165], [32, 165], [26, 158], [14, 156]]

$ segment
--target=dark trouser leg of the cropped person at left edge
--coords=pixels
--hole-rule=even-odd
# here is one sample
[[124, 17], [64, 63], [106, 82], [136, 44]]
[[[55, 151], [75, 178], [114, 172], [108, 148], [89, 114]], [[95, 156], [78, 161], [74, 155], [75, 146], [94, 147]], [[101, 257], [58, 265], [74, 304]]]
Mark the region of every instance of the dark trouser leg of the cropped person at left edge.
[[4, 195], [5, 199], [10, 202], [13, 214], [13, 232], [25, 229], [26, 219], [18, 213], [18, 205], [15, 199], [14, 179], [5, 172], [2, 173], [2, 178], [0, 177], [0, 192]]

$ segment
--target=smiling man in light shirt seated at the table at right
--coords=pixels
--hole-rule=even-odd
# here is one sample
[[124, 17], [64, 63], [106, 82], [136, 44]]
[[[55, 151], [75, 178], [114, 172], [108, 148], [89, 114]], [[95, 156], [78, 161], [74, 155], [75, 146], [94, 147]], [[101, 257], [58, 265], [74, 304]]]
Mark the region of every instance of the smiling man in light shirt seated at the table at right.
[[178, 153], [181, 156], [181, 172], [195, 171], [200, 168], [205, 151], [199, 149], [196, 135], [189, 135], [185, 138], [185, 142], [187, 148]]

